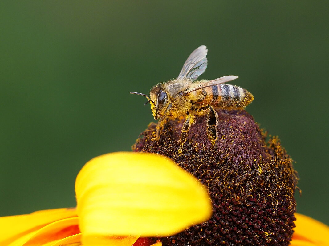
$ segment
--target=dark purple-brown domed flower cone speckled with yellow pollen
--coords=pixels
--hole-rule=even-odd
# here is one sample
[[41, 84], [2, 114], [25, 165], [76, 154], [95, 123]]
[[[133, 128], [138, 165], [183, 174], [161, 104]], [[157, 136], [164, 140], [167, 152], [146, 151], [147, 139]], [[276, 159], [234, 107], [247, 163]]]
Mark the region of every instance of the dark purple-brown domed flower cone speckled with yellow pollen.
[[[178, 153], [184, 118], [168, 122], [159, 140], [151, 123], [132, 147], [174, 160], [208, 187], [211, 219], [174, 236], [163, 245], [289, 245], [296, 203], [297, 173], [277, 137], [266, 142], [245, 111], [218, 112], [219, 129], [212, 146], [206, 117], [191, 126], [183, 154]], [[173, 201], [174, 202], [174, 201]]]

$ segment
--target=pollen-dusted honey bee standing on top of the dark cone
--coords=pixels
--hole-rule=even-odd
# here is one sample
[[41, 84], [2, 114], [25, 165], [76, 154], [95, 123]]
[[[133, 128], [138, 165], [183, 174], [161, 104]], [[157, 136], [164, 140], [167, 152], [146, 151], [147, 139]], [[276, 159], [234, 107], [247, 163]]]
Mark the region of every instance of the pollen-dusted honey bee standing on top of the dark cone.
[[194, 50], [184, 63], [178, 77], [153, 86], [150, 96], [130, 92], [145, 96], [148, 99], [145, 105], [148, 102], [151, 104], [154, 119], [159, 120], [154, 139], [160, 137], [160, 131], [168, 120], [177, 119], [180, 116], [185, 117], [180, 137], [180, 153], [196, 117], [207, 116], [206, 132], [209, 140], [215, 144], [218, 137], [218, 115], [215, 110], [242, 110], [254, 99], [247, 90], [224, 84], [238, 76], [228, 75], [214, 80], [195, 81], [206, 71], [207, 52], [204, 45]]

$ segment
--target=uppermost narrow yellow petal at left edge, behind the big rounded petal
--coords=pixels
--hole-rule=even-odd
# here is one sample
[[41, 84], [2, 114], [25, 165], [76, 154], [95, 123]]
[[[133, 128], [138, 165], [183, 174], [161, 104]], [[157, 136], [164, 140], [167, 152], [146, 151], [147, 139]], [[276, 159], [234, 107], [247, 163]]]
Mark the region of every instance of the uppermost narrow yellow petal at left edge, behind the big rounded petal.
[[37, 211], [27, 215], [0, 217], [0, 245], [7, 245], [51, 222], [75, 216], [77, 216], [75, 208], [61, 208]]

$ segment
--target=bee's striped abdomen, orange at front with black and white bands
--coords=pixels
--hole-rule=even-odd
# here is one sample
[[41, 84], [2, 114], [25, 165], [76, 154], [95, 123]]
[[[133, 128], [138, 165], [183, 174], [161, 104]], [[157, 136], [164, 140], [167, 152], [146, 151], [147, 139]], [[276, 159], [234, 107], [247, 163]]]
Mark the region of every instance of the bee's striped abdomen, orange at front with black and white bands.
[[210, 104], [220, 109], [244, 109], [254, 100], [250, 92], [234, 85], [218, 84], [200, 91], [199, 98], [201, 96], [203, 100], [199, 100], [197, 104]]

